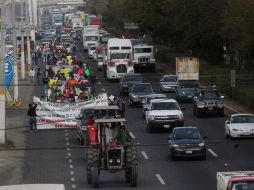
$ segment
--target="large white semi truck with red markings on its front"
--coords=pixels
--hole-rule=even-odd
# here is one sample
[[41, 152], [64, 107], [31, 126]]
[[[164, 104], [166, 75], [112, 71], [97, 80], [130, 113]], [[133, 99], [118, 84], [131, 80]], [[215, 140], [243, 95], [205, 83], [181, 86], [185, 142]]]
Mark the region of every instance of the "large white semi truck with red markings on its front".
[[110, 38], [107, 45], [107, 78], [119, 79], [126, 73], [134, 73], [131, 40]]

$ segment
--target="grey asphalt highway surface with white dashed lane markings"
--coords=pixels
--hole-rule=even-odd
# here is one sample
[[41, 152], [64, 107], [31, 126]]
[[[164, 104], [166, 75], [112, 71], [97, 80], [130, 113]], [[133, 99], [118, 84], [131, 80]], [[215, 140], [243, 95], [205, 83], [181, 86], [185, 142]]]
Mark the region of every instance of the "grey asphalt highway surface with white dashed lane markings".
[[[87, 61], [87, 54], [80, 49], [79, 56]], [[103, 79], [95, 63], [88, 60], [97, 73], [97, 89], [104, 87], [117, 95], [118, 82]], [[158, 89], [160, 73], [142, 73], [144, 81]], [[174, 98], [174, 93], [168, 94]], [[215, 190], [216, 172], [231, 170], [254, 170], [254, 141], [230, 141], [224, 138], [226, 117], [196, 118], [192, 104], [185, 107], [186, 126], [197, 126], [207, 136], [207, 160], [170, 161], [168, 157], [167, 132], [149, 134], [141, 108], [126, 108], [127, 127], [138, 145], [139, 180], [137, 188], [125, 183], [123, 173], [102, 172], [100, 189], [167, 189], [167, 190]], [[92, 189], [86, 182], [83, 148], [78, 146], [75, 130], [45, 130], [27, 134], [23, 183], [63, 183], [67, 190]], [[235, 145], [238, 145], [236, 148]], [[49, 148], [49, 149], [41, 149]], [[56, 149], [59, 148], [59, 149]], [[36, 149], [36, 150], [34, 150]]]

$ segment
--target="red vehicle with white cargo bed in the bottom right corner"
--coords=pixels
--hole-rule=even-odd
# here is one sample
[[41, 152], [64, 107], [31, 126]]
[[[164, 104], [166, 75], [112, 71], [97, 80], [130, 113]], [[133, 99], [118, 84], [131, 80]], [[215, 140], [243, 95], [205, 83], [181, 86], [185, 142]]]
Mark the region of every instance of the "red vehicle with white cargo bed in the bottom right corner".
[[253, 190], [254, 171], [217, 172], [217, 190]]

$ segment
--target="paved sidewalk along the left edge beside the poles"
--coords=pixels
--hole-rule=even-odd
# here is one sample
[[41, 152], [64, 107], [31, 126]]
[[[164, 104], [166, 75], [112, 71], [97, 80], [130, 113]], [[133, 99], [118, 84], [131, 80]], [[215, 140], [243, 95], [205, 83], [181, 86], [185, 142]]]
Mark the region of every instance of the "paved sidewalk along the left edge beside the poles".
[[6, 139], [20, 150], [0, 149], [0, 186], [22, 183], [25, 159], [23, 149], [26, 148], [26, 136], [33, 135], [29, 133], [28, 104], [32, 102], [33, 96], [40, 96], [42, 92], [42, 86], [31, 84], [28, 77], [19, 80], [19, 99], [23, 100], [24, 106], [6, 109]]

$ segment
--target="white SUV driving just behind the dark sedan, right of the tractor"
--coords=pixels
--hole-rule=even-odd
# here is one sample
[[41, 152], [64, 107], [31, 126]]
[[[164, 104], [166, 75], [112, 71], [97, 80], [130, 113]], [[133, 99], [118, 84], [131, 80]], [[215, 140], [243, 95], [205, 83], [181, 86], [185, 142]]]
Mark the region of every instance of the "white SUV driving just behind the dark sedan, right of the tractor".
[[149, 133], [155, 128], [171, 130], [184, 126], [183, 112], [174, 99], [151, 100], [145, 114]]

